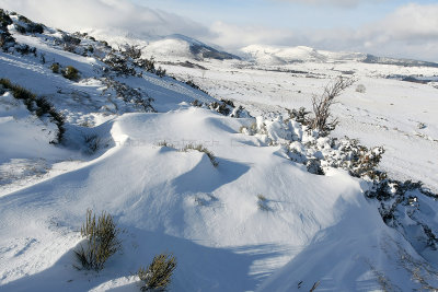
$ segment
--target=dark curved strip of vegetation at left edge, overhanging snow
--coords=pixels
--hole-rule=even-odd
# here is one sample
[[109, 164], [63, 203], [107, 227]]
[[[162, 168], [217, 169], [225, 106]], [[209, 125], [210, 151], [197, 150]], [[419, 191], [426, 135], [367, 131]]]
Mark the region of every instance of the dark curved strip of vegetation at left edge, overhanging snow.
[[48, 116], [53, 122], [58, 127], [57, 141], [50, 143], [60, 143], [64, 138], [66, 129], [64, 128], [65, 118], [58, 113], [54, 105], [44, 96], [36, 96], [26, 89], [12, 84], [9, 79], [0, 79], [0, 85], [12, 92], [16, 100], [22, 100], [28, 112], [35, 113], [39, 118]]

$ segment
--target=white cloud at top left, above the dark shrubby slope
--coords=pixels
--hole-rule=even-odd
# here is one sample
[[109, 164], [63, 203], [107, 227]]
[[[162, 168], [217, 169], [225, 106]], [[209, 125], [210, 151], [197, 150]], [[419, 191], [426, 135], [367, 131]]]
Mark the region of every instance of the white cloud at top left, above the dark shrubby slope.
[[65, 30], [112, 27], [143, 34], [185, 32], [196, 36], [209, 33], [194, 21], [128, 0], [0, 0], [0, 7]]

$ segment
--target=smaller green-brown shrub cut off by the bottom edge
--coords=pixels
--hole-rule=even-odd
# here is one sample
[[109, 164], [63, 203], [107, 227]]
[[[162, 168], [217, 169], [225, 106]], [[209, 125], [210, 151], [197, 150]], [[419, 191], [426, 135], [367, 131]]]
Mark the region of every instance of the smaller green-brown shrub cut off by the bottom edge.
[[172, 273], [176, 268], [176, 258], [171, 254], [155, 256], [148, 269], [140, 268], [138, 277], [145, 282], [141, 291], [155, 290], [165, 291], [171, 283]]

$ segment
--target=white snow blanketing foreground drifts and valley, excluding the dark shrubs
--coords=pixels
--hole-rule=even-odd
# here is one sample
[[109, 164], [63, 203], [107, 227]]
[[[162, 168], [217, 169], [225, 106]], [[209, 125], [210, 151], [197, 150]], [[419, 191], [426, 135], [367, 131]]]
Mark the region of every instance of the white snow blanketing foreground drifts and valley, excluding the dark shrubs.
[[[354, 77], [333, 108], [341, 124], [332, 135], [383, 145], [381, 170], [400, 180], [422, 180], [436, 192], [436, 83], [385, 77], [436, 78], [438, 69], [364, 63], [358, 55], [306, 47], [253, 61], [197, 60], [180, 40], [157, 40], [163, 51], [157, 60], [168, 74], [193, 81], [209, 96], [138, 68], [141, 74], [108, 73], [97, 57], [108, 49], [91, 38], [83, 37], [81, 46], [94, 46], [94, 52], [78, 54], [57, 43], [66, 37], [56, 30], [32, 35], [8, 27], [36, 54], [0, 52], [0, 79], [45, 96], [66, 117], [66, 132], [62, 143], [50, 143], [54, 122], [0, 87], [0, 291], [139, 291], [137, 270], [163, 252], [177, 259], [171, 291], [438, 287], [436, 242], [425, 243], [426, 229], [418, 223], [438, 234], [436, 198], [413, 192], [415, 203], [397, 209], [405, 211], [396, 213], [400, 232], [383, 222], [379, 201], [364, 196], [369, 182], [342, 168], [312, 174], [278, 142], [292, 139], [303, 148], [314, 142], [321, 147], [314, 155], [326, 153], [327, 140], [284, 120], [285, 108], [310, 108], [312, 94], [330, 80]], [[164, 58], [171, 51], [166, 44], [184, 54]], [[80, 79], [54, 73], [56, 62], [77, 68]], [[356, 91], [358, 84], [365, 92]], [[261, 116], [257, 132], [242, 130], [254, 127], [254, 118], [191, 105], [215, 97]], [[181, 151], [191, 143], [210, 150], [217, 167], [206, 153]], [[73, 267], [88, 209], [111, 213], [122, 230], [122, 250], [100, 272]]]

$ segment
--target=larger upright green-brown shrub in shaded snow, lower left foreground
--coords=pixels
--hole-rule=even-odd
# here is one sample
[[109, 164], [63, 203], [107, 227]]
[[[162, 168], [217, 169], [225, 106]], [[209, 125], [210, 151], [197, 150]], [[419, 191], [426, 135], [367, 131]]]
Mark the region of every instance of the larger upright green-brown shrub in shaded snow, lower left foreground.
[[81, 227], [87, 245], [85, 248], [81, 245], [79, 250], [74, 250], [83, 269], [100, 271], [104, 268], [106, 260], [122, 248], [118, 232], [112, 215], [102, 212], [96, 221], [95, 214], [87, 210], [87, 221]]

